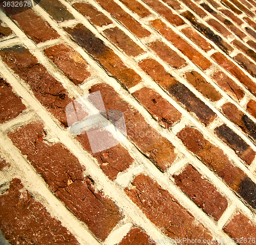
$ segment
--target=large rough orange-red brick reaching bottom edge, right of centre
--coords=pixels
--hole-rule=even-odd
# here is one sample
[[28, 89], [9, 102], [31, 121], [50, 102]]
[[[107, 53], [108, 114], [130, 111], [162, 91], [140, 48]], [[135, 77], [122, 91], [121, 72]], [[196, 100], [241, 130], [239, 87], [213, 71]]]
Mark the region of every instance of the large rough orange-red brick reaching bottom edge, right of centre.
[[200, 239], [202, 244], [203, 239], [212, 239], [210, 232], [156, 181], [139, 174], [132, 185], [125, 188], [126, 194], [164, 234], [173, 239]]

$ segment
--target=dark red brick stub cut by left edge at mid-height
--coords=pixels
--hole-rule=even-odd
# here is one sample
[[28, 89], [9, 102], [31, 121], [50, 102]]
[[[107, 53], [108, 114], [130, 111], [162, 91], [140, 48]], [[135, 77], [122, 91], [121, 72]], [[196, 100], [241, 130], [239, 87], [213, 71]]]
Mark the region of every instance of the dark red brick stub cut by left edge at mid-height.
[[25, 109], [26, 106], [13, 93], [11, 85], [0, 78], [0, 123], [17, 117]]

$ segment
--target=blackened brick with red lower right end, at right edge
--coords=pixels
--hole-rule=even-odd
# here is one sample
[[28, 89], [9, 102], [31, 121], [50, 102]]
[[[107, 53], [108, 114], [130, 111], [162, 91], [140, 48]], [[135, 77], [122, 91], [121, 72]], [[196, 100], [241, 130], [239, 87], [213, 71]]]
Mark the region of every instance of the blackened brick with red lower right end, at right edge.
[[217, 135], [232, 149], [234, 152], [250, 165], [255, 158], [256, 152], [238, 136], [231, 128], [227, 125], [222, 124], [215, 128]]

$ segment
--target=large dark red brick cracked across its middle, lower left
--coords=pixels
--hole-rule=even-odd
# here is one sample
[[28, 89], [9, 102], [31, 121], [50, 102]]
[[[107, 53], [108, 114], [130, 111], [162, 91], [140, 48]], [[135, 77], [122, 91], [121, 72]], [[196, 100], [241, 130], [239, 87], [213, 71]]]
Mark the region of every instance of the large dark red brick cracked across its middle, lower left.
[[95, 190], [93, 180], [84, 177], [84, 168], [65, 146], [48, 144], [46, 136], [44, 125], [39, 121], [8, 133], [54, 194], [96, 237], [104, 240], [121, 218], [117, 206]]

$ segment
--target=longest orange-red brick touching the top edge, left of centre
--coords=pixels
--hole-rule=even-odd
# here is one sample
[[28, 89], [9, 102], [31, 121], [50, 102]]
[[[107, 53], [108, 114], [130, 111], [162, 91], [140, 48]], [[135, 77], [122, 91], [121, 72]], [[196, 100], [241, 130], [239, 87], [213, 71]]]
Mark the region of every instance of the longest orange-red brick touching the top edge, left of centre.
[[147, 37], [151, 33], [144, 29], [134, 18], [127, 14], [118, 4], [113, 0], [104, 1], [96, 0], [106, 11], [116, 17], [124, 26], [138, 37]]

